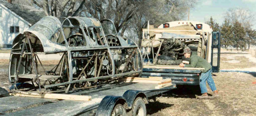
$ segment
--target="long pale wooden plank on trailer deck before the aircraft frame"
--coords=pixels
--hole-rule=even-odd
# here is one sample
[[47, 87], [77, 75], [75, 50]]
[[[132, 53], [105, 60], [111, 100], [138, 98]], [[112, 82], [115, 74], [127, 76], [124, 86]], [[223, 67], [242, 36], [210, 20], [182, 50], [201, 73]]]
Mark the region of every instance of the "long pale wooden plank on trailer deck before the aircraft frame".
[[75, 100], [75, 101], [90, 101], [91, 96], [73, 95], [73, 94], [58, 94], [58, 93], [35, 93], [35, 92], [15, 92], [10, 93], [13, 96], [24, 96], [33, 98], [59, 99], [59, 100]]

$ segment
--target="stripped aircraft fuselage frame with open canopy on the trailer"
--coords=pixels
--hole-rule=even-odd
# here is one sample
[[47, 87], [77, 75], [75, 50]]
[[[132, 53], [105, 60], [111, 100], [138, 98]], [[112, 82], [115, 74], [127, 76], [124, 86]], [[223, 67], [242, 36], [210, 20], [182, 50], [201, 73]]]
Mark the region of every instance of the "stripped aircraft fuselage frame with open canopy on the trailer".
[[[46, 70], [38, 53], [62, 57]], [[25, 91], [68, 92], [137, 76], [141, 59], [135, 42], [120, 37], [110, 20], [47, 16], [15, 37], [8, 77], [16, 89], [22, 90], [18, 83], [30, 83]]]

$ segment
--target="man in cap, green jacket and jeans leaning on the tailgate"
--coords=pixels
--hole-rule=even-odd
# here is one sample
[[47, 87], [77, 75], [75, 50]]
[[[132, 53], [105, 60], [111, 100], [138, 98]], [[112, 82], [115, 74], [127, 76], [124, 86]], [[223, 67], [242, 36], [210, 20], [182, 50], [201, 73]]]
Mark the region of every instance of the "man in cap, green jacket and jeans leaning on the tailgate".
[[203, 67], [204, 71], [201, 73], [200, 76], [200, 89], [201, 89], [201, 96], [198, 98], [209, 98], [207, 94], [206, 88], [206, 81], [210, 86], [211, 90], [213, 91], [213, 96], [219, 96], [218, 91], [216, 90], [216, 86], [212, 79], [212, 66], [208, 63], [205, 59], [198, 55], [191, 55], [191, 50], [189, 47], [184, 49], [184, 56], [189, 59], [189, 64], [179, 64], [179, 67]]

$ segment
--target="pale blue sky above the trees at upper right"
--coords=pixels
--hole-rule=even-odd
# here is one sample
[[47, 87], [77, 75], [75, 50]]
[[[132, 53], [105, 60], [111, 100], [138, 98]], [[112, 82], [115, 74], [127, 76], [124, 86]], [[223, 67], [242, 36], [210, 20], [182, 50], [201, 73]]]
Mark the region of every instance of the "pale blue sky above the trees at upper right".
[[[256, 14], [256, 0], [198, 0], [195, 7], [190, 9], [189, 20], [206, 22], [212, 16], [221, 25], [227, 10], [236, 7], [249, 9]], [[256, 24], [253, 28], [256, 29]]]

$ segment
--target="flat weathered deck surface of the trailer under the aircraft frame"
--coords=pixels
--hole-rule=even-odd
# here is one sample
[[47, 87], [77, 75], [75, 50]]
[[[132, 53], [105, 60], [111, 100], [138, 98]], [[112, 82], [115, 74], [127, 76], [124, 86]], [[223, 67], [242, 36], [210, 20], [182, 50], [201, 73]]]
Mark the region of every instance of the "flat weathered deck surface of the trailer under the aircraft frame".
[[[174, 84], [175, 85], [175, 84]], [[125, 83], [118, 86], [74, 92], [72, 94], [90, 95], [91, 101], [53, 100], [41, 98], [25, 98], [6, 96], [0, 98], [0, 114], [7, 115], [77, 115], [96, 109], [106, 95], [122, 96], [127, 90], [144, 91], [147, 96], [153, 96], [175, 88], [155, 89], [157, 84], [152, 83]]]

